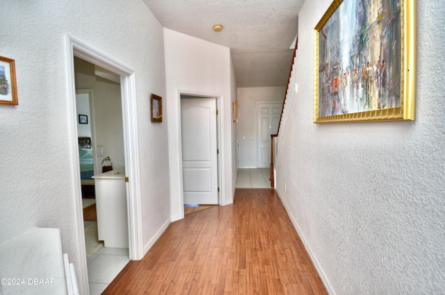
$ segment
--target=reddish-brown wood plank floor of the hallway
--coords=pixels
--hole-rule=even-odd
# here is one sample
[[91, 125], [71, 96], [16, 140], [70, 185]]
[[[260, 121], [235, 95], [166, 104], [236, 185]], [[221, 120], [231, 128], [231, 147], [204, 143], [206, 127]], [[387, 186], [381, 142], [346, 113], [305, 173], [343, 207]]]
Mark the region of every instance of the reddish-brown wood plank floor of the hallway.
[[102, 294], [327, 294], [273, 189], [176, 221]]

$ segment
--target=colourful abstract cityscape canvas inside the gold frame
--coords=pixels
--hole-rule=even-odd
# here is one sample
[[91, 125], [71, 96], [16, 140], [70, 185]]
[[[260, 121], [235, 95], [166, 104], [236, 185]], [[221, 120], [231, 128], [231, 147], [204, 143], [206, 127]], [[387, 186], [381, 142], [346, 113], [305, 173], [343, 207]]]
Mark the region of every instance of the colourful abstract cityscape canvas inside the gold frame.
[[318, 116], [401, 106], [401, 0], [343, 0], [318, 31]]

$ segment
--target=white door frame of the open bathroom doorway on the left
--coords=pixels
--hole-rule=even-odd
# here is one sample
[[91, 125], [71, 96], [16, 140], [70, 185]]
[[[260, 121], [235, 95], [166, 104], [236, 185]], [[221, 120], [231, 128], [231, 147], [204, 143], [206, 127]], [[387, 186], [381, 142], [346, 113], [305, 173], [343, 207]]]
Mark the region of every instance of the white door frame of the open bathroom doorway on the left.
[[[139, 175], [139, 151], [138, 151], [138, 125], [136, 112], [136, 82], [134, 71], [124, 65], [108, 58], [103, 53], [92, 49], [83, 42], [66, 35], [67, 43], [67, 78], [68, 78], [68, 101], [69, 101], [69, 124], [71, 130], [71, 157], [74, 171], [74, 196], [76, 210], [77, 242], [79, 243], [79, 257], [73, 260], [79, 261], [78, 283], [81, 294], [88, 292], [88, 269], [85, 251], [85, 233], [83, 230], [83, 208], [79, 165], [79, 143], [77, 140], [76, 126], [76, 90], [74, 82], [74, 56], [92, 62], [99, 67], [113, 71], [120, 75], [121, 99], [122, 99], [122, 123], [124, 129], [124, 160], [126, 175], [129, 177], [127, 183], [127, 210], [129, 224], [129, 258], [140, 260], [143, 258], [143, 230], [140, 197], [140, 175]], [[80, 274], [80, 276], [79, 276]]]

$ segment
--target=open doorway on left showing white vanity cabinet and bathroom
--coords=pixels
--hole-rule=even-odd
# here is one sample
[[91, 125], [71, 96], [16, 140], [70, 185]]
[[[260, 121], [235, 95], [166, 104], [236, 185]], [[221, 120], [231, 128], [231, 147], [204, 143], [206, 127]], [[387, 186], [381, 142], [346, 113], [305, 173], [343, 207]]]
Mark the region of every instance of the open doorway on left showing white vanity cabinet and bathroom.
[[124, 174], [104, 180], [125, 167], [120, 76], [76, 56], [74, 75], [88, 283], [103, 291], [129, 262]]

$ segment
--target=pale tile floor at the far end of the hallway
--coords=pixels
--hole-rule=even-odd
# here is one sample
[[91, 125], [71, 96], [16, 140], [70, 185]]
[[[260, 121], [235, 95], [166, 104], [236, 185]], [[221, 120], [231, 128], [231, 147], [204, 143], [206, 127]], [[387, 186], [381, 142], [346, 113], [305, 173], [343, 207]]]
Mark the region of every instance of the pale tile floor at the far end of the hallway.
[[236, 178], [238, 188], [271, 188], [269, 168], [239, 168]]

